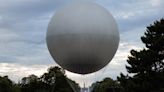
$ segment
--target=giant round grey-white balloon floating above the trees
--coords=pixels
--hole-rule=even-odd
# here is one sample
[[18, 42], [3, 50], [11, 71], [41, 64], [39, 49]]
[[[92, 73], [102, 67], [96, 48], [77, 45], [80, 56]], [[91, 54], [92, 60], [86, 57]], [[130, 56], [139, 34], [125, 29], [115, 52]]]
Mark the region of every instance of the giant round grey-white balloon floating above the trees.
[[88, 74], [107, 65], [116, 53], [119, 32], [112, 15], [91, 2], [56, 11], [47, 31], [47, 46], [64, 69]]

